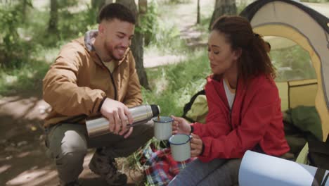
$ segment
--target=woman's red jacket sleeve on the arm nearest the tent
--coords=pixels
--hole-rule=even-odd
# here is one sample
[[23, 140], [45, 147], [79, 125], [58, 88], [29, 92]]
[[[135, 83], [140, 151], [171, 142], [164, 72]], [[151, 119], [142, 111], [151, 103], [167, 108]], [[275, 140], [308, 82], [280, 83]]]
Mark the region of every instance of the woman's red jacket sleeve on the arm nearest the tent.
[[262, 140], [278, 104], [280, 99], [277, 89], [262, 88], [255, 91], [238, 128], [228, 135], [202, 137], [205, 149], [199, 156], [200, 160], [207, 162], [216, 158], [241, 158], [247, 149], [252, 149]]

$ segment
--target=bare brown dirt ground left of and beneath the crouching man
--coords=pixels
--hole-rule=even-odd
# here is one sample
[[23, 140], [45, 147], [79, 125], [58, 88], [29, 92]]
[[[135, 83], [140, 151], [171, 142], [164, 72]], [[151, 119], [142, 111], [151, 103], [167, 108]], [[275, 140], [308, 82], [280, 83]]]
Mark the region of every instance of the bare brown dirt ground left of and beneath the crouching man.
[[[41, 86], [33, 91], [0, 99], [0, 185], [58, 185], [56, 168], [46, 155], [42, 122], [49, 105], [41, 98]], [[93, 174], [88, 163], [93, 149], [84, 159], [79, 180], [83, 185], [106, 185]], [[135, 185], [143, 175], [124, 170]]]

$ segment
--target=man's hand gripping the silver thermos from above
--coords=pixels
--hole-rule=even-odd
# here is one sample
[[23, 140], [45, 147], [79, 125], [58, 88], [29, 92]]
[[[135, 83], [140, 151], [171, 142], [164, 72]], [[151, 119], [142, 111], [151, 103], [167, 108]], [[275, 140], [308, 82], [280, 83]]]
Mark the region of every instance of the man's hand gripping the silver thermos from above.
[[124, 138], [131, 135], [132, 128], [127, 128], [127, 124], [133, 123], [134, 118], [131, 116], [127, 106], [120, 101], [106, 98], [101, 107], [101, 113], [105, 118], [108, 118], [110, 132], [117, 135], [125, 134]]

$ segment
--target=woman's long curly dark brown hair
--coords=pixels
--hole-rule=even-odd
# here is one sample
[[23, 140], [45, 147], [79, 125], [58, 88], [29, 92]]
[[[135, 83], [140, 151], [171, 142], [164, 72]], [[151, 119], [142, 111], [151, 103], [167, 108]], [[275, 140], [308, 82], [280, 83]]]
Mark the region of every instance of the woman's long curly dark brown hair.
[[241, 49], [238, 58], [238, 76], [243, 80], [249, 80], [258, 75], [266, 75], [275, 78], [275, 68], [267, 52], [270, 50], [268, 43], [252, 31], [250, 22], [240, 16], [221, 16], [212, 25], [212, 31], [216, 30], [226, 37], [226, 42], [232, 49]]

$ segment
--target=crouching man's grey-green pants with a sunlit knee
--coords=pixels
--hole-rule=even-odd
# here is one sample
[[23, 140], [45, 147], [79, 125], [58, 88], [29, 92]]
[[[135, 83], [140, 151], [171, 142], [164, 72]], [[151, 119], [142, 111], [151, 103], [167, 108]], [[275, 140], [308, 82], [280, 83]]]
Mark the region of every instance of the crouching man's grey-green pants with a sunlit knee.
[[106, 154], [114, 159], [129, 156], [152, 137], [152, 120], [135, 126], [127, 139], [114, 134], [89, 139], [85, 125], [58, 124], [46, 130], [46, 146], [49, 155], [56, 162], [60, 180], [72, 182], [82, 173], [88, 148], [106, 147]]

